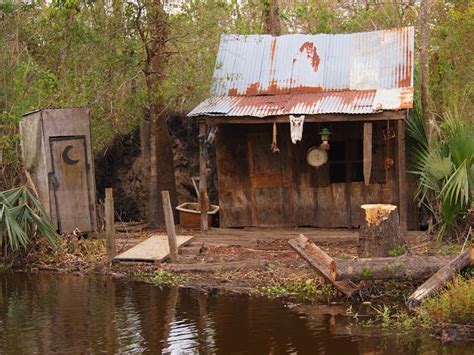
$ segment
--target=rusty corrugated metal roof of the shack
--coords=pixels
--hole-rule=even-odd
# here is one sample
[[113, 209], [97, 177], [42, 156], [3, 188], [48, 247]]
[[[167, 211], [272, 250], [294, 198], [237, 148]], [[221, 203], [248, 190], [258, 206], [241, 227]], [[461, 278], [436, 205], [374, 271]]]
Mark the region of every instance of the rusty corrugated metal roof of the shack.
[[413, 27], [337, 35], [224, 35], [211, 98], [189, 116], [411, 108], [413, 50]]

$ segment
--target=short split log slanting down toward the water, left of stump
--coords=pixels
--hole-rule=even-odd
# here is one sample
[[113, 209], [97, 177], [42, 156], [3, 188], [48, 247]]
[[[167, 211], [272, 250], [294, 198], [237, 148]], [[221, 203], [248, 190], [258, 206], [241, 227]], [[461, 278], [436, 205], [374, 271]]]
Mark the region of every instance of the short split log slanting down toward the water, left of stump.
[[359, 293], [358, 287], [352, 281], [335, 281], [336, 263], [334, 260], [304, 235], [300, 234], [298, 238], [290, 239], [288, 243], [314, 270], [346, 297], [354, 297]]

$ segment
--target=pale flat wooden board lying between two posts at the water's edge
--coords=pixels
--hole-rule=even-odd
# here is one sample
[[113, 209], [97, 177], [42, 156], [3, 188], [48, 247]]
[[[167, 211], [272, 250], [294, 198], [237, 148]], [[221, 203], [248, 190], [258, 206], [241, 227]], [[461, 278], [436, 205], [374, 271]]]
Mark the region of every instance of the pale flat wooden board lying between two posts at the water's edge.
[[[189, 244], [194, 238], [192, 235], [178, 235], [176, 242], [178, 249], [186, 244]], [[168, 244], [168, 237], [163, 235], [153, 235], [143, 242], [135, 245], [126, 252], [117, 255], [113, 262], [148, 262], [161, 263], [165, 261], [170, 253]]]

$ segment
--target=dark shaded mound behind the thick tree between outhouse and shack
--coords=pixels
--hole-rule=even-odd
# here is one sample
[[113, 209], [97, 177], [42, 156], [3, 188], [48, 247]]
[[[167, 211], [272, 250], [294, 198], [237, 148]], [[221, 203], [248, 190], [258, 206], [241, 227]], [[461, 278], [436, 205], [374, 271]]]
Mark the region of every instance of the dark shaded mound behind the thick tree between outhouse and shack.
[[[191, 177], [199, 175], [199, 141], [196, 121], [184, 114], [168, 115], [173, 145], [178, 203], [197, 201]], [[209, 196], [218, 201], [215, 149], [209, 152]], [[115, 210], [123, 221], [146, 219], [148, 204], [148, 164], [140, 158], [140, 131], [116, 136], [110, 145], [95, 156], [98, 199], [104, 199], [106, 187], [114, 189]], [[116, 216], [117, 218], [117, 216]]]

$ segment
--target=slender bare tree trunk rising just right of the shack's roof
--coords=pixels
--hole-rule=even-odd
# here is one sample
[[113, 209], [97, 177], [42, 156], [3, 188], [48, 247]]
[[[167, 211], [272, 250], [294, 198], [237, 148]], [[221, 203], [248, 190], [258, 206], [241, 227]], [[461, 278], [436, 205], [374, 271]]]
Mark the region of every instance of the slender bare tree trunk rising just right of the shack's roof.
[[428, 9], [430, 0], [422, 0], [420, 7], [419, 26], [420, 26], [420, 91], [421, 91], [421, 112], [423, 120], [426, 123], [428, 134], [430, 129], [430, 112], [429, 112], [429, 64], [428, 64], [428, 48], [429, 48], [429, 29], [428, 29]]

